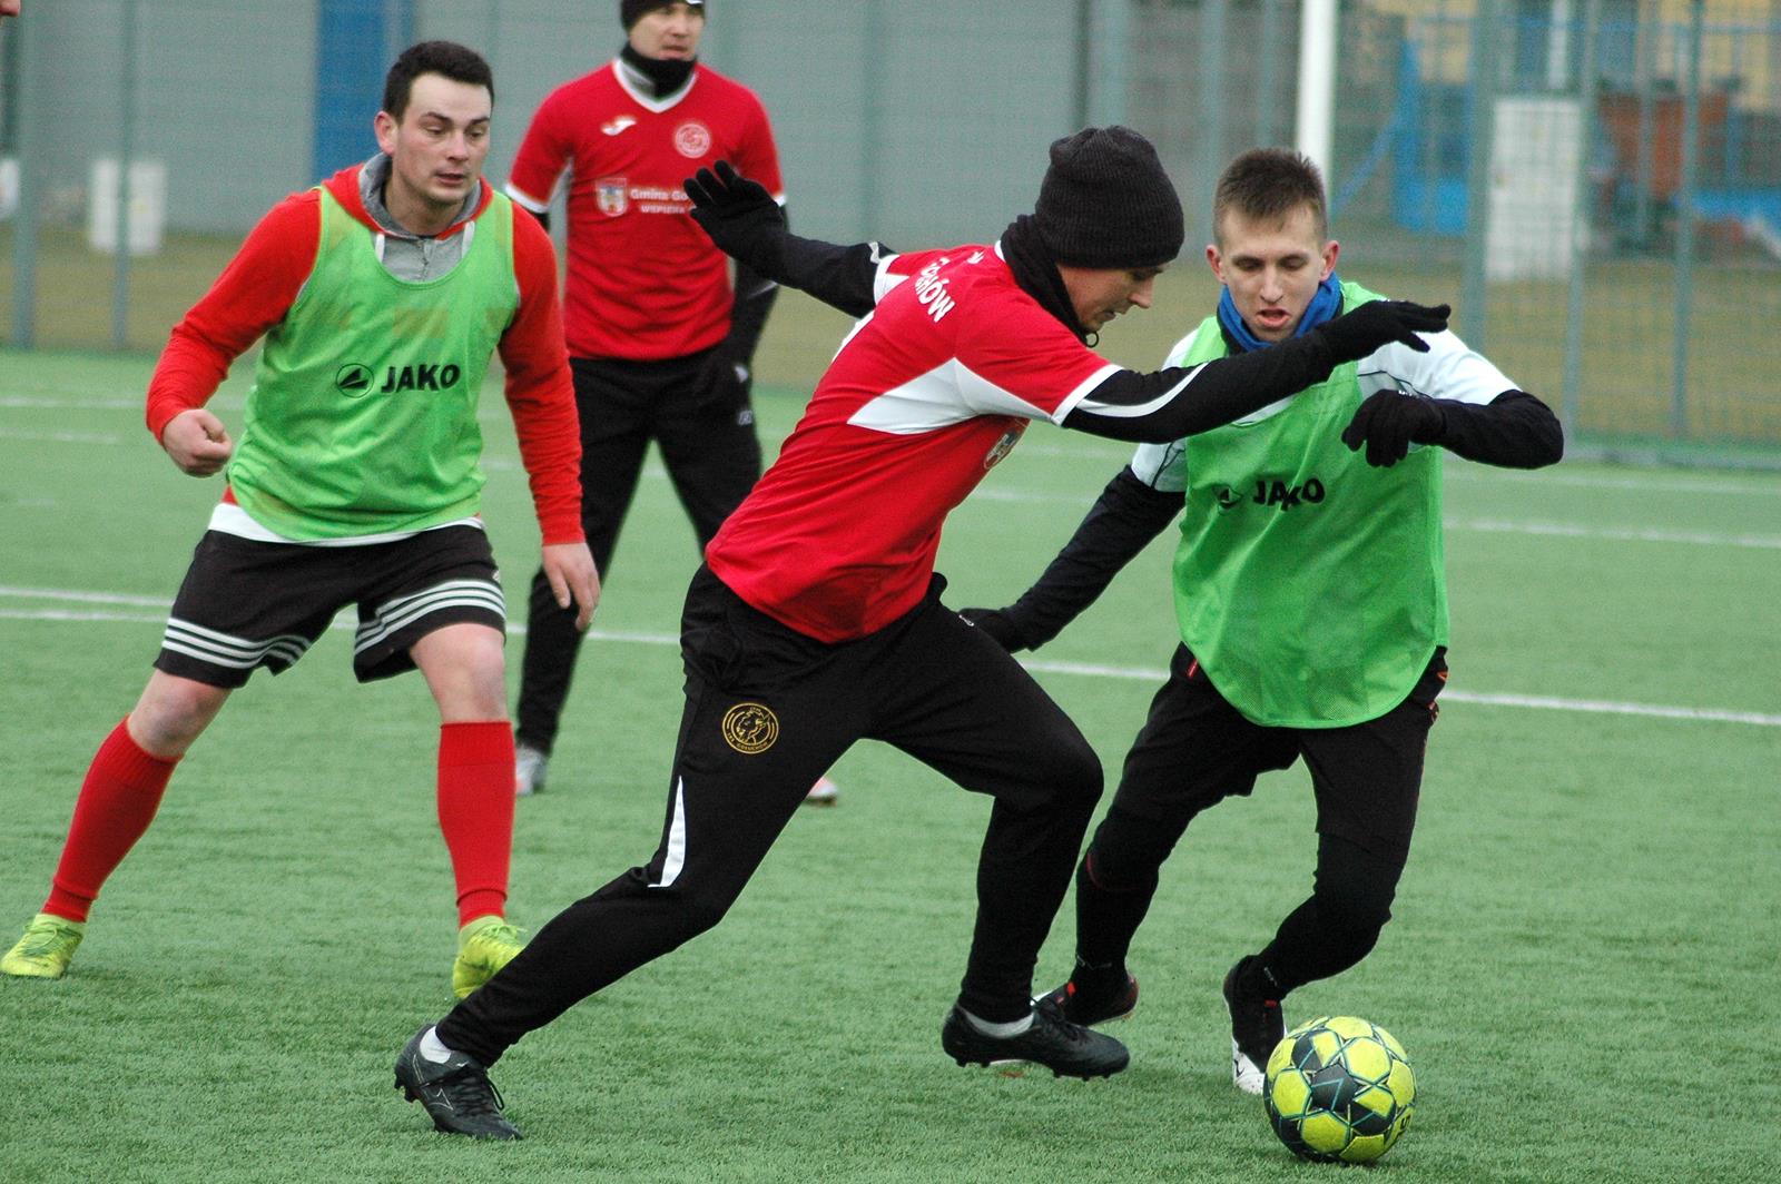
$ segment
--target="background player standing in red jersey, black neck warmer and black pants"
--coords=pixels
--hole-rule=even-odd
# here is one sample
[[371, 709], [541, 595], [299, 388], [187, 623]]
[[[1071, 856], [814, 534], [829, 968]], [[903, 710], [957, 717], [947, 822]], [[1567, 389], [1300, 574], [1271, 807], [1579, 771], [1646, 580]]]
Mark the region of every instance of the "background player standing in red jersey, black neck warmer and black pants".
[[[728, 262], [687, 217], [680, 178], [739, 162], [784, 203], [766, 109], [698, 62], [705, 4], [620, 4], [625, 46], [552, 91], [508, 194], [549, 219], [568, 185], [565, 329], [581, 408], [582, 527], [607, 573], [650, 440], [703, 550], [760, 477], [750, 369], [778, 287]], [[565, 182], [566, 178], [566, 182]], [[581, 632], [533, 580], [516, 726], [516, 792], [545, 787]], [[830, 803], [821, 778], [812, 801]]]

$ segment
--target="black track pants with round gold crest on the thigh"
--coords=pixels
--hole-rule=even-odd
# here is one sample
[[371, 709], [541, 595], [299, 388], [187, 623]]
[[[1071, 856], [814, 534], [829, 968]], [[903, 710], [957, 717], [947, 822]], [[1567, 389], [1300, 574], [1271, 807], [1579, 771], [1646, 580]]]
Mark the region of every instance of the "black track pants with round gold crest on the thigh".
[[[1101, 796], [1076, 725], [939, 602], [841, 645], [748, 607], [700, 570], [682, 618], [686, 710], [663, 840], [648, 864], [570, 904], [440, 1024], [484, 1065], [527, 1031], [723, 919], [810, 782], [858, 739], [892, 744], [996, 805], [960, 1002], [1026, 1015], [1033, 963]], [[867, 853], [894, 867], [896, 853]]]

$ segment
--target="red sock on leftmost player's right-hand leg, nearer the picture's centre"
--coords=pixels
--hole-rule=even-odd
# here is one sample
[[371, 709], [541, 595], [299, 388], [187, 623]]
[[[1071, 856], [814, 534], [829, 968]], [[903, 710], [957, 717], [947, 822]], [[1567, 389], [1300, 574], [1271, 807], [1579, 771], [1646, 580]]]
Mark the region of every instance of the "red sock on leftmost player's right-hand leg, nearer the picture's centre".
[[458, 878], [458, 924], [504, 915], [513, 858], [513, 725], [440, 725], [440, 833]]

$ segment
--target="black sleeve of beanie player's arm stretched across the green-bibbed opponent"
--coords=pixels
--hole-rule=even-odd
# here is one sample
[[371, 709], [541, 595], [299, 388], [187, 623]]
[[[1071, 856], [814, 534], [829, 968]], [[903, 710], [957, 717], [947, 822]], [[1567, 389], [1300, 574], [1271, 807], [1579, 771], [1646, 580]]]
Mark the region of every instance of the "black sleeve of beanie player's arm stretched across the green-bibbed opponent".
[[1307, 333], [1197, 367], [1120, 370], [1090, 390], [1063, 417], [1063, 427], [1110, 440], [1170, 443], [1322, 383], [1332, 369], [1336, 356], [1323, 335]]

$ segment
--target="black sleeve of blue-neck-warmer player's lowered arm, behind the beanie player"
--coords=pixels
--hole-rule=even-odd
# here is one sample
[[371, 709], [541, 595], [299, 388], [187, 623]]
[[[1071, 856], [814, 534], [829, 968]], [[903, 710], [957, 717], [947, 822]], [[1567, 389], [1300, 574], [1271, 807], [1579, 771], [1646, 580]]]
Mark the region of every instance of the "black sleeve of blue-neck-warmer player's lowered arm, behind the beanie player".
[[1175, 520], [1183, 502], [1183, 493], [1152, 490], [1122, 468], [1038, 582], [1003, 609], [1026, 648], [1045, 645], [1092, 605], [1120, 568]]

